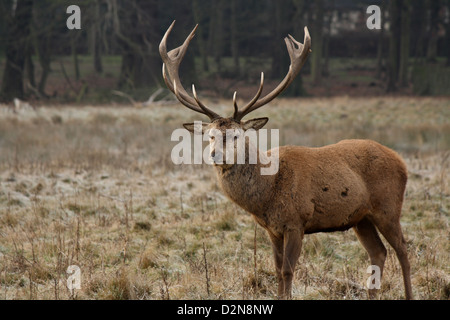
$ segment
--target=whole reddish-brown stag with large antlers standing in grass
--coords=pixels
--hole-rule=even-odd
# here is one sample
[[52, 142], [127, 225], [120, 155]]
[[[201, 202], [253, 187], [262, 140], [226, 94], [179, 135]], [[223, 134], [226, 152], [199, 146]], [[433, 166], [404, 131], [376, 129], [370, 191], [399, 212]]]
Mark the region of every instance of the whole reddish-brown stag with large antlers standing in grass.
[[[311, 52], [308, 28], [304, 28], [303, 43], [291, 35], [284, 39], [290, 66], [278, 86], [260, 97], [264, 84], [261, 73], [256, 95], [239, 108], [235, 92], [233, 115], [222, 117], [200, 101], [194, 85], [193, 96], [183, 88], [179, 66], [198, 24], [181, 46], [167, 52], [166, 42], [174, 24], [175, 21], [159, 45], [164, 82], [182, 105], [210, 119], [201, 128], [196, 129], [194, 123], [185, 123], [184, 128], [194, 133], [201, 130], [202, 134], [211, 130], [224, 136], [229, 130], [236, 133], [234, 143], [222, 147], [215, 136], [210, 136], [210, 156], [218, 185], [225, 195], [267, 231], [273, 248], [277, 297], [292, 299], [294, 271], [304, 235], [353, 229], [371, 264], [379, 267], [380, 276], [387, 256], [379, 233], [383, 235], [400, 262], [406, 299], [413, 299], [407, 244], [400, 225], [408, 176], [405, 162], [395, 151], [372, 140], [352, 139], [317, 148], [280, 146], [265, 152], [245, 141], [249, 149], [257, 149], [258, 159], [276, 151], [279, 167], [272, 175], [262, 175], [260, 169], [264, 164], [260, 160], [248, 163], [248, 155], [243, 164], [223, 159], [227, 148], [237, 148], [242, 133], [250, 129], [257, 131], [268, 122], [267, 117], [243, 118], [275, 99], [299, 74]], [[370, 299], [376, 295], [376, 288], [368, 289]]]

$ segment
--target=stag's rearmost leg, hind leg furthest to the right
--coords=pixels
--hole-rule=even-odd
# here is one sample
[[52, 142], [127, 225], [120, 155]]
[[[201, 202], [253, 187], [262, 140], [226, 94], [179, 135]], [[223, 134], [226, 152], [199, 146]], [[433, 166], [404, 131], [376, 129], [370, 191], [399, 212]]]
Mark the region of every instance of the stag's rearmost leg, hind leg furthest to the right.
[[398, 261], [402, 267], [403, 282], [405, 284], [405, 296], [407, 300], [412, 300], [411, 269], [408, 260], [408, 252], [406, 249], [406, 241], [403, 237], [400, 221], [397, 220], [397, 222], [392, 222], [392, 220], [382, 220], [375, 221], [375, 224], [383, 237], [386, 238], [397, 254]]

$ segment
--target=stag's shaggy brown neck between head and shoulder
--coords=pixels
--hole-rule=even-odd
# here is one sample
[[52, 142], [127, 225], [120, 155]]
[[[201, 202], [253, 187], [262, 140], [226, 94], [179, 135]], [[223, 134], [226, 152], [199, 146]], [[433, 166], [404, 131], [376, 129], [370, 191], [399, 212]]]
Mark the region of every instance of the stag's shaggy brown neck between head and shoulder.
[[269, 159], [264, 151], [252, 147], [258, 154], [257, 163], [249, 163], [246, 153], [244, 164], [215, 166], [215, 170], [219, 185], [228, 198], [248, 212], [262, 215], [272, 198], [276, 175], [261, 174], [261, 169], [267, 167]]

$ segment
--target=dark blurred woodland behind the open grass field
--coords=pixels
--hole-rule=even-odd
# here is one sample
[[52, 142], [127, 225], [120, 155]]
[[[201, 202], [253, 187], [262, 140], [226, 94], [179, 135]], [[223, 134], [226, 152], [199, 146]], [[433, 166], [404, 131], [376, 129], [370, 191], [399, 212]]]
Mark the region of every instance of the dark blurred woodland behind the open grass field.
[[[81, 29], [69, 30], [69, 5]], [[366, 26], [369, 5], [382, 28]], [[312, 37], [312, 54], [284, 96], [449, 95], [450, 0], [2, 0], [0, 100], [111, 103], [167, 99], [159, 42], [196, 37], [181, 66], [202, 95], [253, 96], [288, 70], [283, 38]]]

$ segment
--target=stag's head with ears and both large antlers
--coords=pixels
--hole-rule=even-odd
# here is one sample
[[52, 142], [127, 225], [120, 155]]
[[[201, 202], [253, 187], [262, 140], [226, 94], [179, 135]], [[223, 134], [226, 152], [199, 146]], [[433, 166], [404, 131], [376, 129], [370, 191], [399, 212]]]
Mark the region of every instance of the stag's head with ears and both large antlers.
[[[304, 43], [296, 41], [291, 35], [288, 35], [284, 39], [286, 47], [289, 53], [289, 58], [291, 64], [289, 66], [289, 71], [281, 81], [281, 83], [270, 93], [260, 98], [264, 86], [264, 73], [261, 73], [261, 81], [253, 99], [251, 99], [244, 107], [239, 108], [237, 104], [237, 92], [233, 95], [233, 106], [234, 113], [231, 117], [222, 117], [205, 106], [204, 103], [200, 101], [195, 90], [195, 86], [192, 85], [192, 94], [190, 96], [187, 91], [183, 88], [179, 76], [179, 67], [181, 61], [183, 60], [189, 43], [194, 38], [195, 31], [198, 25], [194, 27], [189, 36], [186, 38], [184, 43], [169, 52], [167, 52], [167, 38], [175, 25], [175, 21], [172, 22], [170, 27], [164, 34], [163, 39], [159, 45], [159, 52], [163, 60], [162, 74], [164, 82], [170, 91], [172, 91], [177, 99], [189, 109], [196, 111], [198, 113], [206, 115], [210, 119], [210, 123], [204, 123], [201, 128], [195, 128], [194, 123], [185, 123], [183, 126], [191, 131], [197, 133], [209, 133], [210, 136], [210, 152], [211, 158], [214, 164], [226, 166], [226, 154], [227, 148], [233, 148], [235, 151], [238, 148], [238, 143], [240, 139], [244, 136], [244, 132], [253, 129], [261, 129], [268, 121], [269, 118], [255, 118], [251, 120], [242, 120], [250, 112], [268, 104], [270, 101], [275, 99], [284, 89], [286, 89], [295, 77], [300, 72], [301, 68], [306, 62], [306, 59], [311, 52], [311, 37], [308, 32], [308, 28], [305, 27], [305, 39]], [[166, 72], [167, 70], [167, 72]], [[219, 140], [220, 139], [220, 143]], [[233, 142], [231, 144], [230, 142]], [[245, 143], [245, 142], [244, 142]], [[233, 152], [237, 154], [237, 152]]]

